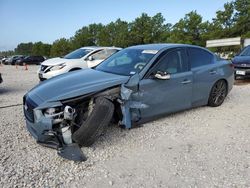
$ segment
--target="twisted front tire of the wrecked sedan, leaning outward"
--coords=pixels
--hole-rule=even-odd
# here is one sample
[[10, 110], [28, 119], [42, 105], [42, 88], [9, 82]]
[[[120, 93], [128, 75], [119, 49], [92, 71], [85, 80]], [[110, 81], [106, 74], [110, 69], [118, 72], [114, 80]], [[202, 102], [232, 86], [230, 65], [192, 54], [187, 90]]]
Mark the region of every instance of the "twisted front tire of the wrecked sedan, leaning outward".
[[93, 111], [81, 127], [73, 133], [72, 139], [80, 146], [91, 146], [109, 125], [114, 113], [114, 104], [103, 97], [95, 100]]

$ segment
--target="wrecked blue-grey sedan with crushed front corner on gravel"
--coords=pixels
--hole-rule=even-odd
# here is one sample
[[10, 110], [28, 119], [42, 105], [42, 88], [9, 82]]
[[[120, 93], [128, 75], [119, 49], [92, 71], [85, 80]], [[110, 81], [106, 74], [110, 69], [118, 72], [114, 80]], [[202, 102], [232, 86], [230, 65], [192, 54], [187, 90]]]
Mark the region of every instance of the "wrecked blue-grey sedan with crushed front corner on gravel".
[[207, 49], [139, 45], [117, 52], [95, 69], [36, 86], [23, 98], [24, 114], [40, 144], [60, 148], [61, 156], [72, 159], [69, 148], [93, 144], [111, 119], [131, 128], [193, 107], [217, 107], [233, 81], [232, 63]]

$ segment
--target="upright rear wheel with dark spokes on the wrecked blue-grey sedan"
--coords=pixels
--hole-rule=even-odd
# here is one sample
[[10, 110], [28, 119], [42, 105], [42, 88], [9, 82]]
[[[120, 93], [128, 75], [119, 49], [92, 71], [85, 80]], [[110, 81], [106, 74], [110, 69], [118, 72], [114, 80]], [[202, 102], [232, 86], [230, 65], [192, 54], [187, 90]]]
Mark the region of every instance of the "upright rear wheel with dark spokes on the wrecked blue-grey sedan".
[[220, 106], [227, 96], [227, 83], [225, 80], [217, 81], [210, 92], [208, 105], [212, 107]]

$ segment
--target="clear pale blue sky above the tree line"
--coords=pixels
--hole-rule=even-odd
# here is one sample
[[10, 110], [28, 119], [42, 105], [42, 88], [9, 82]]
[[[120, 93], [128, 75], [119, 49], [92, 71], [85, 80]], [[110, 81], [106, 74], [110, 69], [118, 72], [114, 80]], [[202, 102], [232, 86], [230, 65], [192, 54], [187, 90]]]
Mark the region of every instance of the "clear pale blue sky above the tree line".
[[21, 42], [53, 43], [70, 38], [92, 23], [108, 24], [121, 18], [133, 21], [143, 12], [162, 13], [175, 24], [196, 10], [211, 21], [228, 0], [0, 0], [0, 51]]

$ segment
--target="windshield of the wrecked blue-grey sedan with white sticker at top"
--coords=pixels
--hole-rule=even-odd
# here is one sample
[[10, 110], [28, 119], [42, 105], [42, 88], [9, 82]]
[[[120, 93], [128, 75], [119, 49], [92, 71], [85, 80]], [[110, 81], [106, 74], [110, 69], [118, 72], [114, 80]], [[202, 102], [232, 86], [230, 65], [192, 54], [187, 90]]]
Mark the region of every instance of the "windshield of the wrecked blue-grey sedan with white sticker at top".
[[139, 73], [157, 52], [156, 50], [124, 49], [103, 61], [96, 70], [125, 76], [134, 75]]

